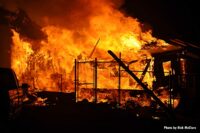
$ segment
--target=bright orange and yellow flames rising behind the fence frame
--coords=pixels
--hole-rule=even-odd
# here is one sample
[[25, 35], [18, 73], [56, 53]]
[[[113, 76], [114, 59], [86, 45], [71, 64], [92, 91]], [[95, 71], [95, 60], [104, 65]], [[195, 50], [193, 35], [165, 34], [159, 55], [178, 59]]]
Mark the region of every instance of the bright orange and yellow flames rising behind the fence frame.
[[[153, 37], [151, 30], [143, 31], [137, 19], [125, 16], [110, 4], [93, 6], [98, 8], [98, 12], [90, 16], [89, 26], [72, 29], [46, 25], [42, 30], [47, 34], [47, 40], [27, 41], [20, 38], [19, 34], [13, 30], [12, 68], [20, 83], [27, 82], [34, 89], [73, 92], [75, 59], [79, 61], [94, 60], [94, 58], [104, 61], [112, 60], [107, 54], [107, 50], [112, 50], [122, 53], [123, 60], [137, 60], [130, 65], [130, 68], [133, 71], [142, 71], [145, 68], [144, 60], [151, 58], [150, 52], [144, 50], [143, 47], [151, 42], [157, 42], [158, 46], [168, 45], [163, 40]], [[79, 22], [74, 23], [77, 25]], [[91, 55], [98, 39], [98, 45]], [[89, 68], [90, 64], [87, 65], [80, 67], [81, 81], [89, 81], [93, 78], [93, 70]], [[110, 64], [103, 67], [108, 68], [108, 65]], [[98, 76], [99, 88], [117, 88], [117, 81], [110, 77], [110, 73], [99, 70]], [[140, 77], [141, 72], [138, 72], [137, 76]], [[121, 79], [122, 88], [141, 89], [132, 79], [130, 79], [132, 81], [127, 79], [130, 78], [125, 76]], [[151, 88], [152, 74], [146, 74], [143, 81]], [[132, 85], [128, 82], [132, 82]], [[82, 96], [90, 97], [91, 95], [87, 93]], [[146, 104], [149, 105], [148, 102]]]

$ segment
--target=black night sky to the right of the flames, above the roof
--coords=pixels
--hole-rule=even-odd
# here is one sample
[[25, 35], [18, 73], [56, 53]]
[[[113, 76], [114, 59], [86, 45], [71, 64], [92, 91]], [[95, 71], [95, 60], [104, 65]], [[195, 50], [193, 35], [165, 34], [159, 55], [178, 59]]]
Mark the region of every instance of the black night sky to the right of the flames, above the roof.
[[199, 44], [199, 8], [191, 0], [125, 0], [122, 9], [148, 23], [156, 37]]

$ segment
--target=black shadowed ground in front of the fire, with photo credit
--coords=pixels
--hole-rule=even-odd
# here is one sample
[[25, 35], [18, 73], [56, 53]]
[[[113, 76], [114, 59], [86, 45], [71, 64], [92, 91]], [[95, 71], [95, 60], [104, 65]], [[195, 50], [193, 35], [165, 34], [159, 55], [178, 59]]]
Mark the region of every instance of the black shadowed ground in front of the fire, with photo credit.
[[48, 98], [51, 99], [48, 106], [24, 105], [18, 116], [5, 124], [0, 133], [199, 131], [199, 115], [196, 114], [176, 114], [174, 120], [166, 117], [164, 112], [158, 115], [145, 108], [136, 112], [107, 104], [75, 103], [62, 95], [59, 99], [55, 96]]

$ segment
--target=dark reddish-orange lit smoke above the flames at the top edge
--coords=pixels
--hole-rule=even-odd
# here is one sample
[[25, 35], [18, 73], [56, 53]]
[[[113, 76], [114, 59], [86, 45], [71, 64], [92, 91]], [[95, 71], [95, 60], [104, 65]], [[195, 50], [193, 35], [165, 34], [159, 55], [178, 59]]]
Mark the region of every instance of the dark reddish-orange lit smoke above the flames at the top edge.
[[82, 29], [90, 25], [90, 17], [103, 13], [105, 7], [119, 8], [122, 0], [1, 0], [9, 10], [21, 8], [41, 26], [57, 25]]

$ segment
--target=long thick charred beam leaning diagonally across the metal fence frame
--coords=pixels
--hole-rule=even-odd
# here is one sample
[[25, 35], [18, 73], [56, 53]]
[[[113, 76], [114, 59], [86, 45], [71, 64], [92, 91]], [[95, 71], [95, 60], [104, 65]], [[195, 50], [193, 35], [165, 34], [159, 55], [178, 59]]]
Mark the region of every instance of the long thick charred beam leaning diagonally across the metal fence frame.
[[142, 86], [142, 88], [144, 89], [144, 91], [151, 96], [160, 107], [162, 107], [167, 113], [168, 115], [171, 116], [171, 118], [174, 118], [174, 114], [172, 112], [171, 109], [169, 109], [167, 106], [165, 106], [165, 104], [111, 51], [108, 50], [108, 53], [119, 63], [120, 66], [122, 66], [124, 68], [124, 70], [135, 79], [135, 81], [137, 81], [137, 83], [139, 85]]

